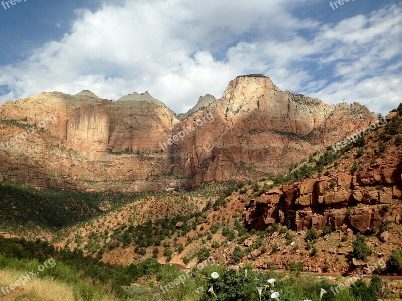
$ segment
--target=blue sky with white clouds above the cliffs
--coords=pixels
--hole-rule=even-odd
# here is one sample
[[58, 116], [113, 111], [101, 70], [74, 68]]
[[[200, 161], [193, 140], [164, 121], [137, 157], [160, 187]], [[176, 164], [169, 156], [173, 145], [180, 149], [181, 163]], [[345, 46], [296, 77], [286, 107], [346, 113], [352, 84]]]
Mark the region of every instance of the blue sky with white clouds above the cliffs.
[[386, 114], [402, 102], [400, 0], [11, 1], [0, 4], [0, 104], [148, 91], [185, 113], [251, 73], [328, 104]]

